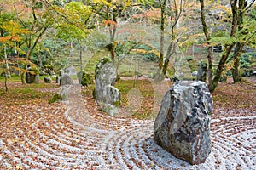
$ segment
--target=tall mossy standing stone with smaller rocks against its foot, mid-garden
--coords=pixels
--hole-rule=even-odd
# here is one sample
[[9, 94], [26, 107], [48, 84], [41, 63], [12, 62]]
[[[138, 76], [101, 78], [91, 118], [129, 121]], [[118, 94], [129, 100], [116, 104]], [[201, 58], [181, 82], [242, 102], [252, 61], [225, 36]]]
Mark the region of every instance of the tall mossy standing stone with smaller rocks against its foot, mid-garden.
[[[117, 114], [117, 108], [115, 105], [119, 103], [120, 100], [119, 90], [113, 87], [116, 77], [117, 72], [113, 62], [108, 58], [101, 59], [101, 61], [96, 65], [96, 88], [94, 90], [94, 96], [96, 100], [102, 103], [102, 110], [112, 116]], [[104, 108], [108, 108], [108, 110], [104, 110]]]

